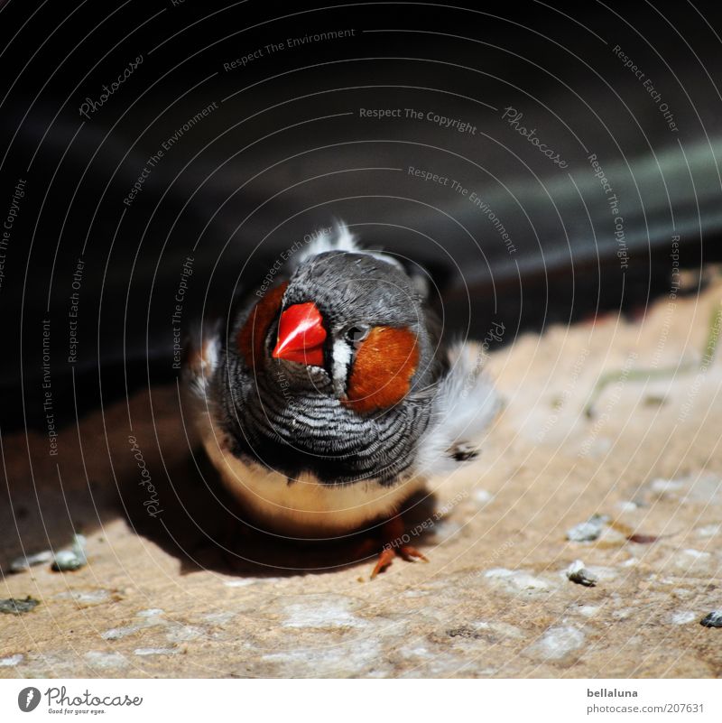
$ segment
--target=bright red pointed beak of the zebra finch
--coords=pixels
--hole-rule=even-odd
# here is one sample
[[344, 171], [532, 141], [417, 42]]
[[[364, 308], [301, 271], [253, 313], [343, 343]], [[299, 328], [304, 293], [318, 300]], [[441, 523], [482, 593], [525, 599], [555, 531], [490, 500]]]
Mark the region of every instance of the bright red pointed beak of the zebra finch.
[[293, 304], [281, 314], [278, 341], [271, 355], [310, 366], [323, 366], [323, 342], [326, 329], [316, 304]]

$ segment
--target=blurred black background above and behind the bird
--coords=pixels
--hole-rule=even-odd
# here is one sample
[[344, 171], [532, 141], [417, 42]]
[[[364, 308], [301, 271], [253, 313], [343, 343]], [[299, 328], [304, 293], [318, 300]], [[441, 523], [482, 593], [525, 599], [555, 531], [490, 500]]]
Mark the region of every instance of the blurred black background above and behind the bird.
[[[366, 244], [429, 270], [449, 333], [483, 338], [502, 321], [504, 343], [606, 311], [643, 313], [669, 291], [673, 236], [682, 266], [699, 271], [718, 259], [718, 4], [474, 7], [5, 3], [3, 219], [16, 183], [26, 184], [0, 289], [3, 431], [44, 433], [43, 319], [62, 424], [178, 375], [171, 315], [188, 255], [184, 330], [225, 311], [283, 250], [336, 218]], [[268, 43], [347, 29], [353, 37], [263, 50], [245, 68], [224, 70]], [[106, 103], [81, 117], [85, 99], [97, 101], [141, 55]], [[126, 206], [149, 157], [213, 103]], [[568, 168], [514, 132], [502, 118], [510, 106]], [[426, 119], [366, 119], [362, 107], [433, 111], [476, 134]], [[619, 199], [627, 264], [591, 153]], [[412, 177], [409, 166], [475, 191], [514, 253], [467, 198]]]

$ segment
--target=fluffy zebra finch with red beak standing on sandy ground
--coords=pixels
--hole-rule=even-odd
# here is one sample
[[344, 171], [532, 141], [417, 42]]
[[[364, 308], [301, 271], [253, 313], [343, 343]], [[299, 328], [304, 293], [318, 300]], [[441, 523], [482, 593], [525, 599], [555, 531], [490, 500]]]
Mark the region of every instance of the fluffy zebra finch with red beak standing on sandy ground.
[[500, 406], [482, 347], [447, 343], [424, 274], [342, 223], [278, 266], [188, 343], [183, 378], [208, 459], [273, 533], [379, 527], [372, 578], [397, 556], [426, 561], [399, 511], [477, 456]]

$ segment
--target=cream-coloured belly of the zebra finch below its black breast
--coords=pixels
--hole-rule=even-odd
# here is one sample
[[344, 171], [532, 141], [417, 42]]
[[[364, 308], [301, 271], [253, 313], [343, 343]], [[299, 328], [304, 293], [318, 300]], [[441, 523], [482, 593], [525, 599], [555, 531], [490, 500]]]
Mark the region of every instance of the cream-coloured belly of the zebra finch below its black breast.
[[234, 457], [223, 432], [207, 413], [202, 416], [203, 444], [223, 481], [256, 517], [280, 533], [308, 538], [357, 530], [396, 512], [425, 484], [423, 478], [412, 477], [394, 487], [373, 480], [329, 486], [310, 474], [289, 484], [285, 475]]

